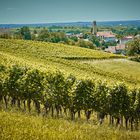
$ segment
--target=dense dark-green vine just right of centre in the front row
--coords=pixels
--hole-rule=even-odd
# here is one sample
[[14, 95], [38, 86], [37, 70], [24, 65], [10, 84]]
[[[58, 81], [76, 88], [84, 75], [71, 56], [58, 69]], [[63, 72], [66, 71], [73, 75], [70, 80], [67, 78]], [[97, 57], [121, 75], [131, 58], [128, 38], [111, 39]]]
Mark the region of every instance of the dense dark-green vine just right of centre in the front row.
[[76, 83], [74, 91], [74, 109], [75, 111], [84, 110], [87, 120], [90, 119], [93, 103], [93, 92], [95, 84], [91, 80], [79, 80]]

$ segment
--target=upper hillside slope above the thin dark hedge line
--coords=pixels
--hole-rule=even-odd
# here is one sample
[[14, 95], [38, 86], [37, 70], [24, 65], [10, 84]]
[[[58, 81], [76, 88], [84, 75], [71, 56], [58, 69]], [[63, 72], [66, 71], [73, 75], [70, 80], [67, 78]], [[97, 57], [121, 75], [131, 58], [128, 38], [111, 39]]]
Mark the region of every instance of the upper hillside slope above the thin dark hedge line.
[[107, 59], [107, 58], [122, 58], [114, 54], [108, 54], [91, 49], [80, 48], [76, 46], [68, 46], [58, 43], [45, 43], [37, 41], [23, 40], [5, 40], [0, 39], [1, 51], [16, 53], [15, 55], [28, 54], [32, 57], [47, 59], [54, 58], [84, 58], [84, 59]]

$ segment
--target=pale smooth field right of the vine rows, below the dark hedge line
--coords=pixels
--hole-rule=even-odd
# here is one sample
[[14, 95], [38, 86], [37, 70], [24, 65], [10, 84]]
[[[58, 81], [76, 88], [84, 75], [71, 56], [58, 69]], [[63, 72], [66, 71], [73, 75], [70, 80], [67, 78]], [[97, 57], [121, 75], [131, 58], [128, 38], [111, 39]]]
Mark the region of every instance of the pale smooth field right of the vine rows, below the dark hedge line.
[[[111, 60], [86, 60], [79, 61], [79, 63], [94, 66], [97, 69], [103, 70], [103, 72], [108, 72], [110, 74], [124, 76], [125, 78], [130, 78], [140, 82], [140, 63], [130, 61], [128, 59], [111, 59]], [[136, 82], [136, 84], [137, 84]]]

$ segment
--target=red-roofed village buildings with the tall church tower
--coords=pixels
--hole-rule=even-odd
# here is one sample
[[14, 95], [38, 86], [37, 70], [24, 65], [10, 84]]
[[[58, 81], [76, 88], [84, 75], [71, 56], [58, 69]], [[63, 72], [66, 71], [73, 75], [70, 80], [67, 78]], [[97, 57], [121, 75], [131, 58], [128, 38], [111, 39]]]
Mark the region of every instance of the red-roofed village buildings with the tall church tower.
[[[126, 54], [125, 49], [127, 48], [127, 43], [130, 41], [133, 41], [134, 38], [140, 38], [140, 35], [128, 35], [128, 36], [119, 36], [112, 31], [98, 31], [98, 27], [96, 24], [96, 21], [93, 22], [92, 28], [91, 28], [91, 35], [87, 36], [87, 38], [84, 38], [83, 33], [79, 34], [72, 34], [67, 33], [67, 37], [77, 37], [78, 39], [83, 39], [84, 41], [90, 41], [90, 37], [94, 36], [100, 40], [100, 42], [105, 43], [113, 43], [116, 42], [116, 45], [108, 46], [104, 49], [105, 52], [114, 53], [114, 54]], [[101, 46], [102, 47], [102, 46]]]

